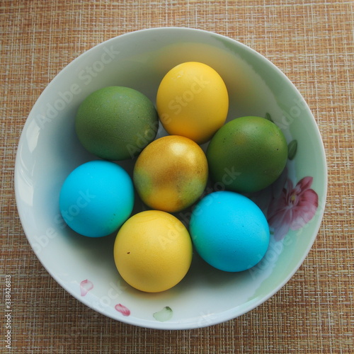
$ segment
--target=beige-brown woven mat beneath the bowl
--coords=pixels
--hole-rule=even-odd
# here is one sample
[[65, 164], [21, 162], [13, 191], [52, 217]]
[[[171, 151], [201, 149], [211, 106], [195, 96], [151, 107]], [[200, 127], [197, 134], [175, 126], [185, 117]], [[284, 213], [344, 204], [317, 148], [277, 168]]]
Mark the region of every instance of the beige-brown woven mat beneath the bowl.
[[[312, 108], [329, 167], [324, 222], [290, 282], [238, 319], [191, 331], [125, 325], [76, 301], [30, 249], [13, 194], [18, 138], [45, 86], [93, 45], [159, 26], [215, 31], [268, 57]], [[1, 303], [11, 275], [13, 353], [353, 353], [353, 30], [353, 1], [1, 0]], [[1, 313], [1, 353], [4, 323]]]

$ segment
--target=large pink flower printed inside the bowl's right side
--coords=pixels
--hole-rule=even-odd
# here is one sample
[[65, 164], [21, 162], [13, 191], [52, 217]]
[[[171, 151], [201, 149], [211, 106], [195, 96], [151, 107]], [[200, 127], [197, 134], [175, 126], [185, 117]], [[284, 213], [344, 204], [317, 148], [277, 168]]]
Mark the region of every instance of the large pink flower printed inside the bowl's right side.
[[268, 208], [268, 223], [274, 229], [274, 238], [280, 241], [289, 229], [304, 227], [314, 217], [319, 206], [319, 197], [310, 187], [312, 177], [304, 177], [295, 188], [287, 179], [287, 188], [282, 188], [278, 198], [271, 200]]

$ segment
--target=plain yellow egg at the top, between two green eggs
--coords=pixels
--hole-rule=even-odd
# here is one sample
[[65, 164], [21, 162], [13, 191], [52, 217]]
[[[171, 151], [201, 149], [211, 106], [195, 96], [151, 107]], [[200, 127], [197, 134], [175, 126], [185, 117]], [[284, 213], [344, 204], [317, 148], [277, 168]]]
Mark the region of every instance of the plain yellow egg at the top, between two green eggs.
[[185, 62], [162, 79], [156, 108], [169, 134], [202, 144], [224, 125], [229, 110], [227, 87], [212, 67]]

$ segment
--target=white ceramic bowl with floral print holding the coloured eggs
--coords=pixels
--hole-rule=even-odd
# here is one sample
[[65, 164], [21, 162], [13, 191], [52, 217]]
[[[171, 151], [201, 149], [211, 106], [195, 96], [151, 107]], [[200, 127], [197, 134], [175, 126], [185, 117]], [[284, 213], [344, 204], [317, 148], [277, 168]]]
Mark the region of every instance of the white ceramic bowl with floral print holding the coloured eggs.
[[[120, 278], [113, 261], [115, 235], [89, 239], [65, 227], [59, 215], [59, 190], [76, 166], [96, 159], [81, 147], [74, 132], [81, 101], [104, 86], [129, 86], [155, 101], [164, 74], [188, 61], [204, 62], [222, 76], [230, 98], [228, 120], [269, 113], [290, 143], [293, 159], [278, 183], [255, 197], [268, 217], [273, 213], [271, 226], [275, 227], [268, 252], [258, 265], [241, 273], [225, 273], [195, 254], [190, 271], [176, 287], [149, 294]], [[160, 129], [158, 136], [164, 134]], [[132, 161], [121, 165], [132, 171]], [[33, 106], [15, 169], [23, 229], [50, 275], [92, 309], [154, 329], [218, 324], [249, 312], [280, 290], [312, 247], [324, 212], [326, 185], [319, 130], [285, 74], [246, 45], [189, 28], [152, 28], [120, 35], [67, 65]], [[275, 203], [269, 207], [271, 198]], [[143, 208], [137, 201], [134, 212]], [[188, 212], [179, 216], [188, 219]]]

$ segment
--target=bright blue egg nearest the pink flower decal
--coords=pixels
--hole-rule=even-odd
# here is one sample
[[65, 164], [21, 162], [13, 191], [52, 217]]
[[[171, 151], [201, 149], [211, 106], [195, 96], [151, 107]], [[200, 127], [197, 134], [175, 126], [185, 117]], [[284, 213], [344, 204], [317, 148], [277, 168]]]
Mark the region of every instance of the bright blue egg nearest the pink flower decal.
[[268, 249], [269, 226], [261, 209], [239, 193], [219, 191], [202, 198], [190, 218], [195, 250], [213, 267], [240, 272]]

